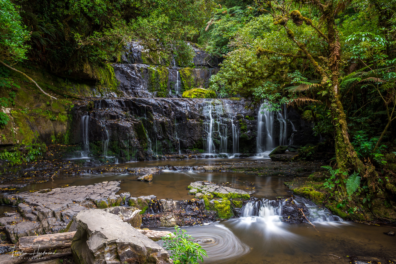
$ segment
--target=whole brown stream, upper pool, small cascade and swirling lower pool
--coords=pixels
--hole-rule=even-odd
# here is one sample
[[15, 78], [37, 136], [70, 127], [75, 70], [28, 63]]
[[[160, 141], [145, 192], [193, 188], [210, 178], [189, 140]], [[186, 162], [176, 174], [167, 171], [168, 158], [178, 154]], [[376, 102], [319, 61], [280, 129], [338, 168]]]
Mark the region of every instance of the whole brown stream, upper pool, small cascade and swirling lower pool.
[[[168, 160], [127, 164], [136, 167], [191, 166], [209, 165], [226, 160]], [[396, 258], [395, 237], [383, 234], [394, 230], [394, 226], [346, 222], [305, 198], [296, 196], [295, 201], [308, 208], [310, 212], [308, 220], [314, 226], [309, 223], [281, 222], [279, 213], [281, 205], [274, 205], [273, 200], [277, 197], [291, 197], [291, 192], [284, 185], [287, 177], [164, 170], [153, 175], [152, 182], [143, 182], [136, 178], [136, 175], [117, 173], [57, 175], [54, 180], [29, 184], [17, 191], [121, 180], [121, 190], [118, 194], [130, 192], [135, 197], [154, 194], [157, 199], [180, 200], [193, 198], [192, 195], [188, 195], [187, 190], [191, 182], [208, 180], [243, 190], [255, 190], [253, 196], [257, 199], [247, 203], [239, 218], [183, 228], [208, 252], [209, 258], [204, 259], [204, 263], [348, 263], [352, 261], [351, 257], [371, 263], [390, 263], [389, 261]], [[15, 210], [15, 207], [2, 205], [0, 210], [0, 213], [4, 213]]]

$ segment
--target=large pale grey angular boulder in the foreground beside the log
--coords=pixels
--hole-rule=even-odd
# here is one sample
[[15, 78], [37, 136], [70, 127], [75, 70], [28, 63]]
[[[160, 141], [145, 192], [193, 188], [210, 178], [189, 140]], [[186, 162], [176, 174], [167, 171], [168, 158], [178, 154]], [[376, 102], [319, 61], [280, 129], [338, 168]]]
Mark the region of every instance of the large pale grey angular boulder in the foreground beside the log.
[[89, 209], [76, 222], [71, 249], [77, 263], [173, 263], [160, 245], [117, 215]]

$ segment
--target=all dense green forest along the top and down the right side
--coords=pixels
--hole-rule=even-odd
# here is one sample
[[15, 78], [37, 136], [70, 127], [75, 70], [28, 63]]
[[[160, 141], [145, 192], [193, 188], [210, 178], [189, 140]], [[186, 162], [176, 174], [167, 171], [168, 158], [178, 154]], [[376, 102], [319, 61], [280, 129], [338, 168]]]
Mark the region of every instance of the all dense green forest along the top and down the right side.
[[[384, 0], [0, 0], [0, 87], [18, 86], [9, 66], [114, 86], [109, 63], [128, 44], [188, 66], [196, 42], [223, 59], [218, 95], [287, 104], [314, 122], [324, 141], [297, 158], [333, 150], [315, 188], [360, 219], [374, 197], [396, 195], [395, 10]], [[8, 121], [0, 112], [0, 126]]]

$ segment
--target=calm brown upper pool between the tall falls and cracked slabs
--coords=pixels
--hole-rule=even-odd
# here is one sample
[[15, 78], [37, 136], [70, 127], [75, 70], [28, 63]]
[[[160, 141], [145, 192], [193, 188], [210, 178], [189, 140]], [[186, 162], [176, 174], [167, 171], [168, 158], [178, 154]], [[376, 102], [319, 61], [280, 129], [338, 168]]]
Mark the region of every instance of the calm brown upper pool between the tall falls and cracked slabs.
[[[168, 171], [154, 174], [152, 182], [136, 180], [139, 175], [131, 174], [86, 174], [78, 176], [57, 175], [47, 182], [29, 184], [20, 191], [53, 189], [63, 186], [90, 185], [103, 181], [121, 180], [121, 190], [118, 193], [130, 192], [131, 196], [147, 196], [154, 194], [158, 199], [191, 199], [187, 186], [197, 180], [208, 180], [217, 183], [228, 183], [228, 186], [255, 190], [254, 196], [275, 199], [277, 196], [289, 197], [287, 187], [281, 177], [260, 177], [233, 172], [196, 172], [196, 171]], [[254, 184], [252, 184], [254, 182]]]

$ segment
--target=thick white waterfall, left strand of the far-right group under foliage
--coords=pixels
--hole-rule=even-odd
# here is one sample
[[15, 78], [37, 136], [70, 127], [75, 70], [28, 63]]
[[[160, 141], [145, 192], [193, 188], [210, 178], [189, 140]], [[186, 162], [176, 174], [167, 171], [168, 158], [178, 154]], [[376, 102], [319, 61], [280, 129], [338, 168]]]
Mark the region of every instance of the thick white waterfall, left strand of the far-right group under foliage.
[[[257, 154], [269, 151], [271, 148], [274, 147], [274, 142], [272, 138], [274, 113], [265, 108], [266, 105], [268, 106], [268, 102], [260, 105], [259, 114], [257, 117]], [[267, 132], [266, 136], [264, 134], [265, 132]]]

